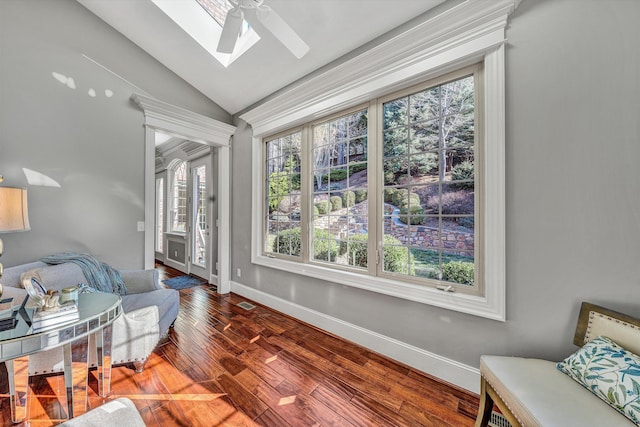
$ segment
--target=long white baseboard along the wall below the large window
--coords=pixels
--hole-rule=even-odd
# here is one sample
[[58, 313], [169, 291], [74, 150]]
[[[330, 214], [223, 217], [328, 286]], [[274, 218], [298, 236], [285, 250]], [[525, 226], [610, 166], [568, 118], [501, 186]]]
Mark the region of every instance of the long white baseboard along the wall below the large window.
[[477, 368], [275, 297], [238, 282], [231, 282], [231, 292], [324, 329], [470, 392], [480, 393], [480, 370]]

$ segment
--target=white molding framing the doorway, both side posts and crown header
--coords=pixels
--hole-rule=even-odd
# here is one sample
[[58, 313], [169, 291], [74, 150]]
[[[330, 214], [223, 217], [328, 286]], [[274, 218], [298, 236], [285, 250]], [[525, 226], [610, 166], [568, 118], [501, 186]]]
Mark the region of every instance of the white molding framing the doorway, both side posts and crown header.
[[144, 267], [155, 262], [155, 133], [188, 139], [218, 152], [218, 292], [231, 290], [231, 136], [236, 127], [146, 95], [131, 95], [144, 112]]

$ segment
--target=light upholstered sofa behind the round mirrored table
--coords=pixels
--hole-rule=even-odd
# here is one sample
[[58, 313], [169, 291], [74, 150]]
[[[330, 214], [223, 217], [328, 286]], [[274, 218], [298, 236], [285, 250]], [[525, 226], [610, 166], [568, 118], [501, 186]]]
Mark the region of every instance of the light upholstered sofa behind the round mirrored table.
[[[62, 290], [88, 281], [82, 268], [74, 263], [48, 265], [41, 261], [9, 267], [0, 278], [3, 298], [22, 301], [26, 291], [20, 276], [36, 272], [47, 289]], [[133, 363], [137, 372], [144, 369], [160, 338], [178, 316], [178, 291], [165, 289], [158, 281], [157, 270], [120, 271], [127, 288], [122, 295], [122, 315], [113, 324], [112, 364]], [[89, 353], [89, 363], [96, 365], [95, 354]], [[29, 359], [29, 375], [61, 372], [64, 368], [62, 348], [37, 353]]]

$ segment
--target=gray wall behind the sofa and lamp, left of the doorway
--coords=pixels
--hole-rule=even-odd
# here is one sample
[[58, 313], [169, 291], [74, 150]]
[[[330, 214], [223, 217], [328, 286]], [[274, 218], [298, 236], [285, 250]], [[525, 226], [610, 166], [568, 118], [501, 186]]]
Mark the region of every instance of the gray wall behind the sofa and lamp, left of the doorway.
[[28, 186], [31, 231], [2, 235], [5, 266], [60, 251], [143, 266], [136, 223], [144, 220], [144, 118], [129, 99], [134, 92], [231, 123], [79, 3], [0, 1], [0, 174], [4, 185], [27, 187], [28, 168], [61, 186]]

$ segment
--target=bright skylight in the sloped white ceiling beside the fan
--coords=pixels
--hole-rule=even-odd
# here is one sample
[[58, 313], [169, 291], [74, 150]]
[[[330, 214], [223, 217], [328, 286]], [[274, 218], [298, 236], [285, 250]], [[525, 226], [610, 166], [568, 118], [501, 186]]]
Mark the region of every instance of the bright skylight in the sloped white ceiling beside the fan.
[[224, 18], [233, 7], [228, 0], [151, 1], [224, 67], [228, 67], [260, 40], [260, 36], [245, 21], [233, 53], [216, 52]]

